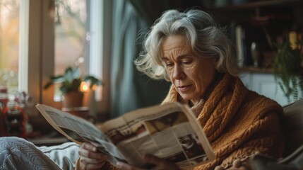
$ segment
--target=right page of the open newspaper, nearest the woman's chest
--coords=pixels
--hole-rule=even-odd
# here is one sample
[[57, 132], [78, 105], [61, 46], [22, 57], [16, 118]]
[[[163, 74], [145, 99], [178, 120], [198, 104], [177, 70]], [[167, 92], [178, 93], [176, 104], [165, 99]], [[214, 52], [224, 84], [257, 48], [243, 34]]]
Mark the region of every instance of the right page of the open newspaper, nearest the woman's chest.
[[132, 111], [107, 121], [100, 128], [125, 155], [127, 163], [145, 169], [153, 165], [144, 162], [144, 154], [167, 159], [181, 169], [215, 159], [196, 117], [179, 103]]

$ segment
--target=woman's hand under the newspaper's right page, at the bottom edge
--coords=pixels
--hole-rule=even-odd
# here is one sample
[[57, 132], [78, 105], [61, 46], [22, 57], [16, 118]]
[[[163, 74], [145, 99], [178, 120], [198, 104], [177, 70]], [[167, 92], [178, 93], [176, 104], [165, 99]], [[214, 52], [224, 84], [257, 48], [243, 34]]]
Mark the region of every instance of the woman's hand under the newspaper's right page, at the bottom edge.
[[[150, 163], [150, 164], [154, 164], [155, 165], [155, 169], [167, 169], [167, 170], [179, 170], [179, 167], [172, 163], [172, 162], [168, 162], [165, 159], [161, 159], [159, 157], [155, 157], [152, 154], [146, 154], [144, 157], [145, 161]], [[120, 169], [124, 169], [124, 170], [143, 170], [141, 168], [138, 168], [136, 166], [131, 166], [129, 164], [125, 164], [123, 162], [119, 162], [119, 168]]]

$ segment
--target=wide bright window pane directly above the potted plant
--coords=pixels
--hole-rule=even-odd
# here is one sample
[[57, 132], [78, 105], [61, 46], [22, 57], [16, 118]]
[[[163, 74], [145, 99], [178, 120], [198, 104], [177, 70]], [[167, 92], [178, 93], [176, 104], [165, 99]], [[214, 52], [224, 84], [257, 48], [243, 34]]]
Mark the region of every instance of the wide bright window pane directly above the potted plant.
[[[83, 74], [102, 78], [102, 6], [100, 0], [55, 1], [54, 74], [78, 66]], [[100, 101], [100, 89], [96, 97]], [[60, 100], [57, 88], [54, 101]]]

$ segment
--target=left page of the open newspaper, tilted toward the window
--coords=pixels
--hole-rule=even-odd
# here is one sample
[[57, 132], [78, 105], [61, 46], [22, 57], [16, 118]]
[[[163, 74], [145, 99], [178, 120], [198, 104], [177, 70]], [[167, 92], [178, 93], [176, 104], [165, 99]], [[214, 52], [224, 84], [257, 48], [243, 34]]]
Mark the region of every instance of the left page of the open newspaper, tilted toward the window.
[[107, 136], [93, 125], [93, 123], [50, 106], [37, 104], [36, 108], [54, 129], [66, 136], [69, 140], [79, 145], [83, 142], [92, 143], [100, 152], [109, 155], [109, 162], [113, 165], [117, 164], [117, 159], [119, 161], [124, 160], [124, 157], [120, 154], [117, 147], [114, 146], [112, 142], [109, 142]]

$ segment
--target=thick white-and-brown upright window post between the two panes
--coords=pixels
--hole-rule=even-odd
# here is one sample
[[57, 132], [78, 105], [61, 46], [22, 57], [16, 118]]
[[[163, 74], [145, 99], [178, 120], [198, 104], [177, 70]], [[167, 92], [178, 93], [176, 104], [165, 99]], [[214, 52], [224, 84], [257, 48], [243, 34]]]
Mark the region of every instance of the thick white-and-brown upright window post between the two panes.
[[20, 1], [18, 91], [30, 94], [34, 106], [44, 103], [58, 108], [48, 97], [54, 95], [53, 91], [43, 91], [42, 86], [54, 72], [54, 18], [50, 15], [53, 3], [54, 0]]

